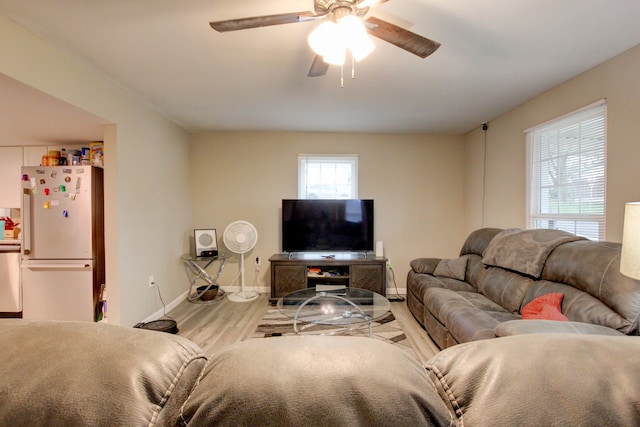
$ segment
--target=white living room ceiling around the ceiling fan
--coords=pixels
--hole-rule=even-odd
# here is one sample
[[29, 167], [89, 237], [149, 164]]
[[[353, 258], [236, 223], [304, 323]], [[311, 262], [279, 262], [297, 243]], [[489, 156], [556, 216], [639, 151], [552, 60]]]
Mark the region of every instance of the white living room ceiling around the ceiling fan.
[[374, 39], [341, 88], [339, 67], [307, 77], [318, 23], [209, 26], [304, 10], [312, 0], [0, 0], [190, 131], [466, 132], [640, 44], [638, 0], [392, 0], [370, 14], [442, 46], [420, 59]]

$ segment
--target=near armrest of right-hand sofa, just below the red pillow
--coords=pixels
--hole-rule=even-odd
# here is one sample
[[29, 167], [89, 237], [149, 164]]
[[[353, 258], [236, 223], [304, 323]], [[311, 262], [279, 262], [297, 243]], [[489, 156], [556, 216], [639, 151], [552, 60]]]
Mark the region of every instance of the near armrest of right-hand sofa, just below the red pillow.
[[557, 320], [509, 320], [496, 326], [497, 337], [522, 334], [581, 334], [624, 336], [622, 332], [606, 326], [582, 322], [562, 322]]

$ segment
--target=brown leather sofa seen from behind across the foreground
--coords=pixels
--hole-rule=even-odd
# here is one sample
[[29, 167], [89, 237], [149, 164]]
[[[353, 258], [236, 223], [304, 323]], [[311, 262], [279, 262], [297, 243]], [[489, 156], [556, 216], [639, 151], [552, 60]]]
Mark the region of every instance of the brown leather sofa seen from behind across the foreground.
[[0, 320], [2, 426], [637, 426], [640, 337], [516, 335], [423, 367], [364, 337], [179, 336]]

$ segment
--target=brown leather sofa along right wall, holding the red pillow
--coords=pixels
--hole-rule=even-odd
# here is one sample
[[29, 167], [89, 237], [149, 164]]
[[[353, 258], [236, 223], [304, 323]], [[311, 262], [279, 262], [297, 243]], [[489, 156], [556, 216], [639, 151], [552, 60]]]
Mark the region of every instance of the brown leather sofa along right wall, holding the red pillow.
[[[620, 250], [557, 230], [479, 229], [443, 261], [450, 268], [411, 262], [407, 305], [442, 349], [515, 334], [637, 335], [640, 281], [620, 273]], [[526, 304], [550, 293], [562, 294], [568, 322], [522, 320]]]

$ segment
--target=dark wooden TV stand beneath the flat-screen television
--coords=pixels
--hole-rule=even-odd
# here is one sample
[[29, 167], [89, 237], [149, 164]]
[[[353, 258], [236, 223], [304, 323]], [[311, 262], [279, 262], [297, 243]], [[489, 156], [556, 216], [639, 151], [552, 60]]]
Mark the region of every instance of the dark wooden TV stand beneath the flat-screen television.
[[387, 258], [373, 254], [337, 254], [334, 258], [310, 254], [275, 254], [271, 263], [271, 297], [322, 285], [344, 285], [387, 293]]

